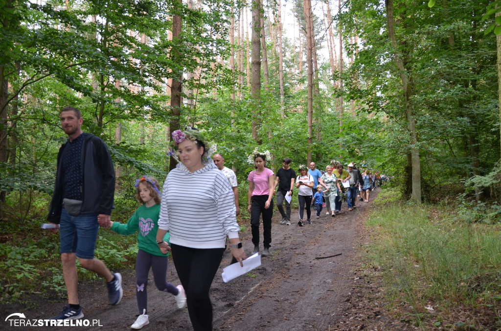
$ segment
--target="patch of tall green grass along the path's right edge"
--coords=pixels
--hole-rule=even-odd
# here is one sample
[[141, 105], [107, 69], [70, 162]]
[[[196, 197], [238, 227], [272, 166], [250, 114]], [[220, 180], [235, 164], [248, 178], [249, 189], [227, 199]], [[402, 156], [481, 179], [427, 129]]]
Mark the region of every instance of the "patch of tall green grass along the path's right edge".
[[458, 307], [482, 310], [498, 322], [499, 227], [456, 222], [443, 206], [405, 204], [389, 195], [379, 194], [368, 218], [378, 238], [367, 257], [383, 270], [390, 308], [408, 303], [411, 311], [402, 318], [416, 326], [432, 317], [430, 305], [445, 314]]

